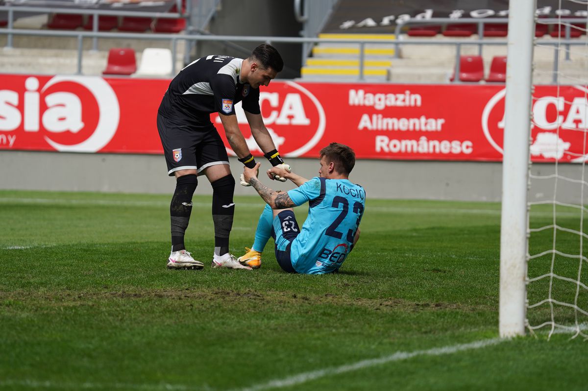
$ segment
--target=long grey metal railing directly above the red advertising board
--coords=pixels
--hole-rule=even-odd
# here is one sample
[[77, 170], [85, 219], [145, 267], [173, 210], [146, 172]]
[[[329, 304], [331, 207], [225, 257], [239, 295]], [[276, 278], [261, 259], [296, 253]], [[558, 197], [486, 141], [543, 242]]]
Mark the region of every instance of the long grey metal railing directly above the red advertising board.
[[[167, 14], [173, 15], [173, 14]], [[169, 17], [169, 16], [167, 16]], [[290, 44], [329, 44], [329, 43], [349, 43], [349, 44], [359, 44], [359, 81], [365, 80], [364, 69], [363, 69], [363, 62], [365, 59], [365, 45], [367, 44], [390, 44], [390, 41], [382, 42], [381, 39], [325, 39], [325, 38], [298, 38], [298, 37], [280, 37], [280, 36], [226, 36], [226, 35], [212, 35], [212, 36], [204, 36], [204, 35], [186, 35], [186, 34], [148, 34], [148, 33], [121, 33], [121, 32], [95, 32], [95, 31], [39, 31], [39, 30], [27, 30], [27, 29], [13, 29], [12, 26], [9, 28], [0, 28], [0, 35], [28, 35], [28, 36], [38, 36], [38, 35], [49, 35], [49, 36], [68, 36], [68, 37], [76, 37], [78, 39], [78, 64], [77, 64], [77, 73], [82, 73], [82, 61], [83, 61], [83, 48], [82, 48], [82, 41], [83, 38], [121, 38], [121, 39], [156, 39], [156, 40], [163, 40], [171, 42], [172, 46], [172, 55], [173, 58], [176, 58], [177, 49], [176, 46], [178, 41], [185, 41], [185, 42], [198, 42], [198, 41], [220, 41], [220, 42], [283, 42], [283, 43], [290, 43]], [[500, 40], [472, 40], [472, 39], [452, 39], [450, 41], [436, 41], [433, 39], [410, 39], [409, 41], [398, 41], [394, 42], [399, 46], [404, 45], [450, 45], [455, 46], [456, 48], [456, 69], [454, 78], [455, 83], [459, 83], [459, 59], [461, 55], [461, 49], [463, 45], [507, 45], [506, 39]], [[537, 45], [566, 45], [566, 46], [574, 46], [574, 45], [584, 45], [586, 46], [585, 39], [558, 39], [557, 41], [554, 40], [545, 40], [540, 39], [536, 41]], [[554, 51], [556, 56], [554, 57], [554, 76], [553, 81], [557, 82], [557, 51]], [[172, 73], [176, 73], [176, 61], [172, 62]]]

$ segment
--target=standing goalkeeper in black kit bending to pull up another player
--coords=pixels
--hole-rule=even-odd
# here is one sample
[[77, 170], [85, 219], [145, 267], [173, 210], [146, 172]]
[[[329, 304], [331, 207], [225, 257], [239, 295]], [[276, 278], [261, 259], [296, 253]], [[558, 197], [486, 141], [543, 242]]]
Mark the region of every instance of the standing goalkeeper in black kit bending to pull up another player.
[[[212, 185], [215, 248], [211, 266], [251, 269], [240, 265], [229, 253], [229, 235], [235, 213], [235, 179], [230, 172], [225, 145], [210, 115], [219, 113], [230, 147], [240, 162], [254, 168], [255, 159], [249, 152], [235, 115], [235, 104], [242, 102], [253, 138], [264, 156], [272, 166], [283, 165], [263, 124], [259, 108], [259, 86], [269, 85], [282, 68], [283, 61], [278, 51], [263, 44], [246, 59], [219, 55], [199, 58], [183, 68], [169, 84], [157, 115], [168, 175], [176, 178], [169, 208], [172, 250], [168, 268], [202, 269], [204, 264], [198, 259], [209, 256], [198, 254], [194, 259], [184, 244], [192, 212], [192, 196], [198, 186], [198, 176], [203, 174]], [[283, 167], [289, 170], [288, 165]], [[279, 176], [274, 179], [286, 181]]]

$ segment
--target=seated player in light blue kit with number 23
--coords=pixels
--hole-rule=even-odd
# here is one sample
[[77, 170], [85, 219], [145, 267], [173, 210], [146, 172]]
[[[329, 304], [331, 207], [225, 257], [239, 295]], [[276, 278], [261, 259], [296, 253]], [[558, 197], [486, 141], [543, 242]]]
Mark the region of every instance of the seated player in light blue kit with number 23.
[[[298, 185], [298, 189], [276, 192], [263, 185], [254, 169], [245, 168], [243, 179], [268, 203], [259, 218], [255, 243], [239, 258], [242, 265], [259, 268], [261, 252], [273, 236], [276, 259], [283, 270], [300, 274], [336, 272], [359, 239], [359, 223], [365, 209], [362, 186], [349, 182], [355, 166], [353, 149], [330, 143], [320, 150], [319, 176], [310, 180], [280, 166], [268, 170]], [[308, 202], [308, 218], [300, 230], [293, 206]], [[273, 209], [273, 212], [272, 212]]]

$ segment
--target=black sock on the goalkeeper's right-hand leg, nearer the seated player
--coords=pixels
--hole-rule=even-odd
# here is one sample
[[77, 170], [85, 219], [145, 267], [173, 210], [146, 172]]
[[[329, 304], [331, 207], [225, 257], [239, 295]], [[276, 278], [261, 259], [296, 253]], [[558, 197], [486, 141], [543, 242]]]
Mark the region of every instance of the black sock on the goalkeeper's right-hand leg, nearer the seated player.
[[233, 228], [235, 203], [235, 179], [232, 175], [223, 176], [212, 185], [212, 220], [215, 223], [215, 255], [229, 252], [229, 235]]

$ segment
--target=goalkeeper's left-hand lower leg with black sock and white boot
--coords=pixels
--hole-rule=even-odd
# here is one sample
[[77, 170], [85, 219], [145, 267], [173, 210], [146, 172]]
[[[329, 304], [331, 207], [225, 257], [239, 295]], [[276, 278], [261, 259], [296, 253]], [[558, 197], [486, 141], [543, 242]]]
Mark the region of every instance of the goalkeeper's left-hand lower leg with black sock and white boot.
[[169, 205], [171, 221], [172, 251], [168, 258], [169, 269], [202, 269], [204, 264], [192, 258], [186, 251], [184, 236], [192, 213], [192, 196], [198, 186], [198, 177], [193, 170], [176, 173], [176, 189]]

